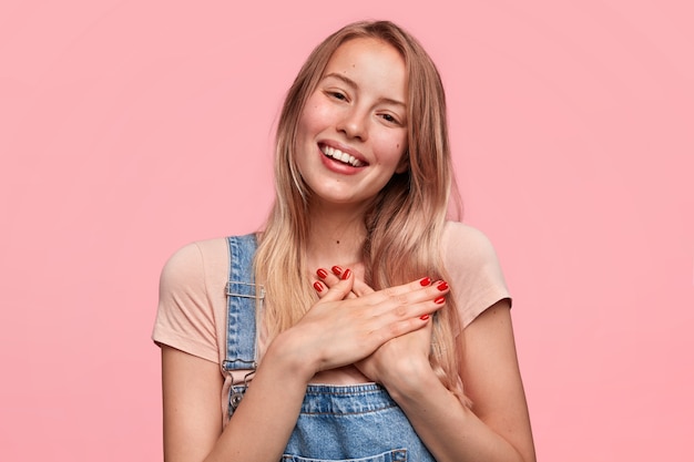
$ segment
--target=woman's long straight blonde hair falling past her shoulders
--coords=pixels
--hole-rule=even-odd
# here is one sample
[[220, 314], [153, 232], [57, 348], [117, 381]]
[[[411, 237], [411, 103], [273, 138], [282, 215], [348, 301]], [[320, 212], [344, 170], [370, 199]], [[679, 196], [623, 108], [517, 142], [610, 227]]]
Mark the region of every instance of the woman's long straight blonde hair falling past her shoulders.
[[[378, 39], [398, 50], [405, 60], [409, 92], [408, 168], [392, 176], [365, 216], [366, 283], [378, 290], [423, 276], [447, 278], [441, 235], [449, 212], [458, 218], [459, 202], [441, 79], [419, 42], [392, 22], [348, 24], [314, 49], [289, 89], [279, 116], [276, 198], [255, 257], [256, 278], [266, 288], [267, 309], [261, 322], [269, 338], [292, 327], [317, 300], [306, 280], [310, 191], [294, 157], [297, 125], [335, 50], [357, 38]], [[387, 265], [379, 264], [382, 261]], [[430, 362], [443, 384], [462, 399], [460, 342], [457, 345], [457, 336], [461, 335], [455, 299], [448, 297], [447, 306], [435, 317]]]

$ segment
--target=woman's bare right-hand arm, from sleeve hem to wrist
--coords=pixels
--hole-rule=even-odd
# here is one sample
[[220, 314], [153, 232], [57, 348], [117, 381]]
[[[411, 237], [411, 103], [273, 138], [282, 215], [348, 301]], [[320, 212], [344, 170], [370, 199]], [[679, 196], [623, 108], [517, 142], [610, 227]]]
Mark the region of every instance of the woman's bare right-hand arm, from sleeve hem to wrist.
[[385, 384], [438, 461], [535, 460], [516, 358], [508, 300], [482, 312], [465, 330], [461, 377], [473, 410], [463, 407], [426, 358]]

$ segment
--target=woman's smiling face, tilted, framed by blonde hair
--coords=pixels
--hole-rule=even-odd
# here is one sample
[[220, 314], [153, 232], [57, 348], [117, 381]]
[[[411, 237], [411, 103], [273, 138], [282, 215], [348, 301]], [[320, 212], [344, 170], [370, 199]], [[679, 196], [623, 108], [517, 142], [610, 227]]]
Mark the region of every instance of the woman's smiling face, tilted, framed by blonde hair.
[[359, 38], [335, 51], [296, 136], [314, 201], [364, 204], [407, 168], [407, 94], [405, 61], [390, 44]]

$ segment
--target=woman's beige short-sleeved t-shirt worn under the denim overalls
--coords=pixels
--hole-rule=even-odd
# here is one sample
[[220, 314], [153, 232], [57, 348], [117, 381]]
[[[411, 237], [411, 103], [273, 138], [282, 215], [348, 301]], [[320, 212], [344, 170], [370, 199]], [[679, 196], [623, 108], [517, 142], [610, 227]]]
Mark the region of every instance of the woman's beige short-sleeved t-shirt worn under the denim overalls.
[[[489, 239], [479, 230], [449, 222], [442, 256], [456, 297], [461, 326], [497, 301], [509, 297], [503, 274]], [[228, 248], [225, 238], [201, 240], [177, 250], [160, 280], [160, 299], [152, 338], [220, 365], [225, 376], [223, 396], [243, 372], [222, 370], [226, 352], [226, 292]], [[308, 283], [308, 281], [307, 281]], [[263, 341], [258, 345], [263, 349]], [[226, 414], [226, 405], [224, 405]]]

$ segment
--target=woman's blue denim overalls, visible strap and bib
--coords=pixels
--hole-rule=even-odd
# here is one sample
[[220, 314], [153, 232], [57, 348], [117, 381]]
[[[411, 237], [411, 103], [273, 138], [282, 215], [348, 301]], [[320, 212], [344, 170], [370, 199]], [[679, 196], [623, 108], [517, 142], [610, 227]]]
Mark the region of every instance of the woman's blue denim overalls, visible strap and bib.
[[[256, 301], [264, 288], [254, 283], [254, 235], [228, 237], [226, 360], [223, 369], [256, 368]], [[233, 384], [228, 414], [241, 402], [248, 380]], [[377, 383], [309, 384], [282, 461], [433, 462], [405, 413]]]

